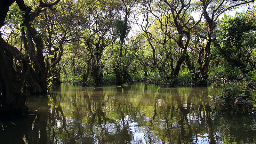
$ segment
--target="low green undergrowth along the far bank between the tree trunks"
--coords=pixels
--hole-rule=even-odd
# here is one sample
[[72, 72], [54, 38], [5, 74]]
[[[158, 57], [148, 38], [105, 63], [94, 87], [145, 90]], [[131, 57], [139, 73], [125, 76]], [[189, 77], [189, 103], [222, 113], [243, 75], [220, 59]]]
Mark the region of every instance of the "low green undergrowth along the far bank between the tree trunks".
[[[224, 68], [224, 66], [212, 67], [210, 68], [208, 74], [208, 86], [220, 87], [225, 83], [231, 82], [238, 75], [239, 71], [232, 71], [230, 69]], [[148, 73], [148, 77], [145, 78], [143, 71], [137, 74], [130, 74], [131, 78], [127, 80], [127, 83], [132, 82], [145, 82], [148, 84], [155, 84], [162, 87], [188, 87], [193, 86], [192, 76], [188, 69], [183, 69], [180, 71], [179, 76], [176, 78], [168, 79], [166, 76], [159, 76], [157, 71], [152, 71]], [[82, 75], [72, 75], [68, 77], [61, 75], [62, 83], [72, 83], [78, 85], [94, 85], [94, 80], [92, 76], [88, 77], [86, 84], [82, 82]], [[115, 74], [103, 74], [101, 84], [116, 84]]]

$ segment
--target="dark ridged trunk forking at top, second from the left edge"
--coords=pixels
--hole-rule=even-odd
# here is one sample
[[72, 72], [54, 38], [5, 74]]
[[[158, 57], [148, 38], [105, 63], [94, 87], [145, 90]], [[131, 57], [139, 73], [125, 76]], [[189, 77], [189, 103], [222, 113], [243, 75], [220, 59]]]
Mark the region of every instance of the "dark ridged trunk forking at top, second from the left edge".
[[[27, 27], [26, 38], [28, 43], [28, 51], [26, 52], [28, 53], [31, 62], [33, 63], [33, 69], [35, 69], [35, 75], [33, 75], [33, 78], [32, 78], [34, 80], [30, 82], [32, 83], [31, 92], [35, 94], [47, 93], [48, 73], [46, 70], [44, 56], [43, 56], [44, 43], [43, 43], [42, 37], [36, 31], [36, 28], [32, 27], [32, 22], [36, 18], [36, 15], [34, 14], [39, 14], [39, 13], [30, 12], [31, 9], [27, 8], [23, 0], [16, 0], [16, 3], [19, 6], [20, 10], [25, 12], [22, 14], [22, 17], [23, 17], [24, 26]], [[40, 1], [40, 4], [42, 4], [41, 1]], [[23, 43], [26, 43], [26, 42], [23, 41]]]

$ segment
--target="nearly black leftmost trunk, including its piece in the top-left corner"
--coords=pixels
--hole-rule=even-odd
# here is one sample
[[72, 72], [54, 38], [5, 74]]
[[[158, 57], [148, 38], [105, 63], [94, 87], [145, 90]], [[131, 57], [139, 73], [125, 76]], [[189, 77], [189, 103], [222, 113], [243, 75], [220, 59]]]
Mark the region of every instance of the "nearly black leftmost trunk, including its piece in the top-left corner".
[[[14, 0], [4, 0], [0, 2], [0, 27], [4, 25], [4, 20], [9, 11], [9, 6], [14, 3]], [[23, 69], [20, 76], [13, 68], [13, 53], [17, 51], [9, 51], [14, 49], [11, 45], [7, 44], [0, 33], [0, 113], [2, 116], [15, 116], [28, 113], [28, 107], [25, 105], [27, 95], [21, 91], [22, 83], [20, 78], [24, 77], [25, 69]], [[16, 49], [16, 48], [15, 48]], [[17, 50], [17, 49], [16, 49]], [[17, 53], [16, 53], [17, 54]], [[25, 59], [19, 53], [22, 62]]]

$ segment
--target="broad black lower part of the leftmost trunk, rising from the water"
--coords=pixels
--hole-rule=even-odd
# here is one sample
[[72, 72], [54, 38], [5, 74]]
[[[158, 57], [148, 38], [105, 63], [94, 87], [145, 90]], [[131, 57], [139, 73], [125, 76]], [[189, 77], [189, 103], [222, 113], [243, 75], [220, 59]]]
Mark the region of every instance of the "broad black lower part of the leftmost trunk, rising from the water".
[[8, 52], [4, 52], [7, 45], [2, 38], [0, 45], [0, 113], [4, 116], [28, 114], [28, 107], [25, 104], [27, 95], [21, 91], [19, 77], [13, 68], [13, 56], [10, 53], [7, 56]]

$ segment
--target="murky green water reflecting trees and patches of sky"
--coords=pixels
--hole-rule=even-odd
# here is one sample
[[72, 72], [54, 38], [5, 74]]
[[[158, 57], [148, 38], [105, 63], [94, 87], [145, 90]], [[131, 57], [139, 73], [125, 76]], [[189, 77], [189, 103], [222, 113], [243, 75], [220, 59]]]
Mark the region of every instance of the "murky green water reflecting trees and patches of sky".
[[30, 97], [32, 115], [1, 120], [0, 143], [256, 143], [256, 115], [211, 110], [218, 89], [62, 84]]

